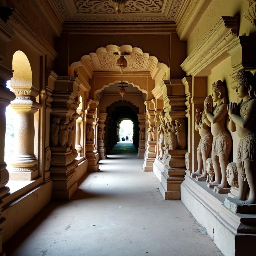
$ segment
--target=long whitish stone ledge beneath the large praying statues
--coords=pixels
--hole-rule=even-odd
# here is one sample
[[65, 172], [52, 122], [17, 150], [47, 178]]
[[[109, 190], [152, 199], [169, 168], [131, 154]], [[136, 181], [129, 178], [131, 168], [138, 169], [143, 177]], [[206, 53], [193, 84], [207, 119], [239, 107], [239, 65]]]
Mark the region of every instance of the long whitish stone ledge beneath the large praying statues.
[[187, 175], [181, 184], [182, 202], [225, 256], [254, 255], [256, 214], [231, 212], [223, 205], [225, 198]]

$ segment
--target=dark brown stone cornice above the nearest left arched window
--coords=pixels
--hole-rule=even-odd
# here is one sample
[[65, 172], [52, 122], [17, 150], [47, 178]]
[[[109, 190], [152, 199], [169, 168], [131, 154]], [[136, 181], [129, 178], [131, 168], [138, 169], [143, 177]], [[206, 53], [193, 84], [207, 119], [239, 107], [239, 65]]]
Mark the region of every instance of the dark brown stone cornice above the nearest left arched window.
[[15, 33], [26, 41], [30, 42], [38, 52], [47, 54], [51, 60], [57, 57], [57, 52], [51, 45], [34, 29], [32, 25], [18, 12], [17, 9], [13, 11], [8, 23], [15, 30]]

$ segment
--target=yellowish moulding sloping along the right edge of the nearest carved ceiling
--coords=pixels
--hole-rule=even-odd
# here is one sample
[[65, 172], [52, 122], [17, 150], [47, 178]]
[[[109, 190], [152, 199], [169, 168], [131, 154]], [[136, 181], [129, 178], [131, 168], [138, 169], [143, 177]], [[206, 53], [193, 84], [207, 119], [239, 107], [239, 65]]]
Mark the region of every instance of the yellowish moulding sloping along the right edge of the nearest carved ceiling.
[[191, 0], [177, 26], [179, 39], [186, 41], [212, 0]]

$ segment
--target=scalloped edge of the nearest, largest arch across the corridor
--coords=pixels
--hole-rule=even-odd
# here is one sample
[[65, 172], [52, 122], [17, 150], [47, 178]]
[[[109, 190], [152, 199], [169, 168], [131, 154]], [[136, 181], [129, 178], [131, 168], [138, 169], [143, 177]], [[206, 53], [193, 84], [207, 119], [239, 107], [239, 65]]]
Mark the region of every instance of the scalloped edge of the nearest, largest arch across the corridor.
[[[98, 67], [100, 67], [100, 62], [99, 62], [99, 59], [98, 59], [98, 56], [101, 54], [101, 53], [108, 53], [108, 52], [118, 52], [119, 54], [121, 54], [122, 52], [129, 52], [131, 54], [138, 54], [140, 55], [142, 58], [146, 58], [148, 60], [153, 60], [156, 64], [156, 68], [160, 68], [160, 69], [163, 69], [167, 74], [166, 77], [168, 77], [168, 71], [169, 71], [169, 68], [167, 67], [166, 64], [164, 63], [161, 63], [161, 62], [158, 62], [158, 59], [157, 57], [155, 56], [151, 56], [149, 55], [148, 53], [143, 53], [142, 49], [141, 48], [138, 48], [138, 47], [132, 47], [131, 45], [122, 45], [122, 46], [117, 46], [117, 45], [107, 45], [106, 47], [99, 47], [96, 52], [92, 52], [90, 53], [89, 55], [84, 55], [81, 57], [80, 61], [76, 61], [76, 62], [73, 62], [71, 65], [70, 65], [70, 69], [72, 71], [74, 71], [76, 68], [78, 67], [83, 67], [83, 63], [89, 59], [89, 60], [94, 60], [95, 62], [95, 65]], [[143, 71], [143, 70], [142, 70]], [[132, 72], [132, 71], [131, 71]], [[134, 71], [136, 72], [136, 71]]]

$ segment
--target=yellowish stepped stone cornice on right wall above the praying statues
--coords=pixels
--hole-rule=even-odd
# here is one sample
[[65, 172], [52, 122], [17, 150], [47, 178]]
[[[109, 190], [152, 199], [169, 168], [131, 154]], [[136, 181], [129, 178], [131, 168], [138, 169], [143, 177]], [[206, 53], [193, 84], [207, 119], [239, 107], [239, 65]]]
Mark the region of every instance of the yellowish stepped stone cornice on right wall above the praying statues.
[[[227, 52], [227, 46], [237, 37], [239, 17], [221, 17], [180, 67], [187, 76], [195, 75], [217, 57]], [[220, 61], [223, 59], [219, 58]], [[215, 66], [219, 63], [215, 63]]]

